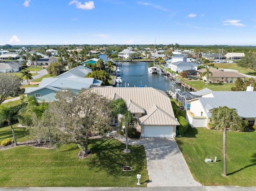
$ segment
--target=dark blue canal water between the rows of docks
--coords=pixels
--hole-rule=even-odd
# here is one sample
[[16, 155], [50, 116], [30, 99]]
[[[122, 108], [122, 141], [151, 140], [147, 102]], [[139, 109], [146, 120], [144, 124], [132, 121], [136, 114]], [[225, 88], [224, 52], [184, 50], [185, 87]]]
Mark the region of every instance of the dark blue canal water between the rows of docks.
[[[106, 61], [106, 55], [100, 55], [99, 57]], [[160, 89], [166, 93], [167, 90], [171, 89], [170, 85], [172, 84], [174, 89], [180, 89], [180, 85], [173, 83], [171, 79], [165, 79], [164, 75], [148, 73], [148, 67], [150, 67], [150, 62], [122, 62], [121, 72], [118, 76], [121, 77], [123, 83], [119, 87], [139, 87], [143, 85]]]

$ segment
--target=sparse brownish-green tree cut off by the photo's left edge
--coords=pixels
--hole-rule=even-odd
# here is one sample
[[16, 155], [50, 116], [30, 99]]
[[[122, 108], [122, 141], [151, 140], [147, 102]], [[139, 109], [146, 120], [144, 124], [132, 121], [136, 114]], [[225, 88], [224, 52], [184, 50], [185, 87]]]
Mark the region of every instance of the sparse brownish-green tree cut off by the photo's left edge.
[[16, 93], [20, 92], [21, 79], [16, 75], [0, 73], [0, 104]]

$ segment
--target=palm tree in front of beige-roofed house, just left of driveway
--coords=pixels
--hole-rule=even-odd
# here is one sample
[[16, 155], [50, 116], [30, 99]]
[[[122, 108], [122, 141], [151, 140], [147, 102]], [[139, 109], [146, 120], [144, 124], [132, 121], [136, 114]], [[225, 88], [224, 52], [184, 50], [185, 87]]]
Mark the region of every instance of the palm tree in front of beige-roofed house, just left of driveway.
[[127, 132], [128, 124], [130, 124], [133, 121], [137, 122], [138, 119], [132, 116], [131, 112], [127, 108], [125, 100], [123, 100], [122, 98], [113, 100], [110, 106], [112, 106], [113, 116], [116, 116], [118, 114], [122, 115], [120, 124], [125, 125], [125, 140], [126, 140], [126, 149], [124, 150], [124, 152], [129, 153], [130, 150], [128, 149], [128, 132]]

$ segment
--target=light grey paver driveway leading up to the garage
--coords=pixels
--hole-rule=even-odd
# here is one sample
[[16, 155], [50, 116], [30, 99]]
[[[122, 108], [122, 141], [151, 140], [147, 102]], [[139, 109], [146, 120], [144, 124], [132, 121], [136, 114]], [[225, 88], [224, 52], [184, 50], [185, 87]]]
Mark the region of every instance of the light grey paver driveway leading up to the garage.
[[[114, 138], [125, 143], [124, 136]], [[130, 145], [144, 145], [150, 182], [147, 187], [202, 186], [195, 181], [174, 138], [128, 140]]]

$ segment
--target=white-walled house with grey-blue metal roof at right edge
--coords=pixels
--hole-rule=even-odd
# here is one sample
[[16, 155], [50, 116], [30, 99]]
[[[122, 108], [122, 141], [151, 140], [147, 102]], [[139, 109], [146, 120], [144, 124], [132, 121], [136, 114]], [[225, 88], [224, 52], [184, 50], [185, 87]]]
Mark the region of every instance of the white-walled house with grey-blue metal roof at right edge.
[[211, 91], [203, 90], [202, 95], [190, 100], [186, 119], [191, 127], [207, 127], [212, 110], [219, 106], [235, 108], [238, 115], [249, 125], [256, 124], [256, 91]]

